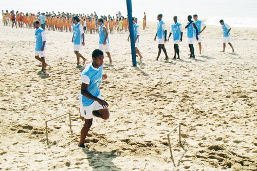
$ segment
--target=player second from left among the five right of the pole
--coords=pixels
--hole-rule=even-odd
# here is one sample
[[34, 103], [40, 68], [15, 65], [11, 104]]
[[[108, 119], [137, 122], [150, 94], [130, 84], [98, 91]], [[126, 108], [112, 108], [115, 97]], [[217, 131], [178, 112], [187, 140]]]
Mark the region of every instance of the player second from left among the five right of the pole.
[[182, 42], [183, 30], [182, 30], [182, 25], [180, 23], [177, 23], [177, 16], [174, 16], [173, 20], [174, 20], [174, 24], [172, 24], [172, 26], [171, 26], [171, 31], [170, 31], [168, 42], [170, 40], [171, 34], [173, 33], [174, 50], [175, 50], [173, 60], [175, 60], [176, 54], [177, 54], [177, 59], [180, 59], [178, 44], [179, 44], [179, 42]]

